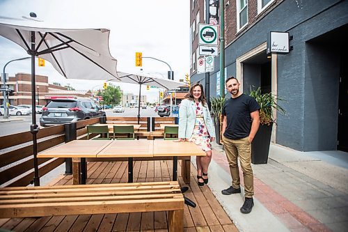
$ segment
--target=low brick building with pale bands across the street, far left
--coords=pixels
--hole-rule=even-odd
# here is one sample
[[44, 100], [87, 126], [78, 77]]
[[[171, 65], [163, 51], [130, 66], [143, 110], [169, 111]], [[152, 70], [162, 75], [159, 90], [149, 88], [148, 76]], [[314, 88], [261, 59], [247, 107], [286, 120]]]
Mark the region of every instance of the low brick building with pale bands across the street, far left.
[[[65, 86], [48, 83], [48, 77], [35, 75], [36, 104], [46, 105], [49, 100], [56, 98], [88, 98], [90, 91], [68, 91]], [[14, 77], [8, 77], [6, 84], [14, 91], [8, 96], [10, 105], [31, 105], [31, 75], [17, 73]], [[3, 105], [3, 95], [0, 95], [0, 104]]]

